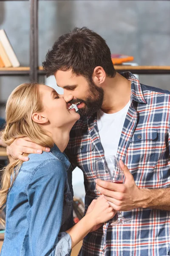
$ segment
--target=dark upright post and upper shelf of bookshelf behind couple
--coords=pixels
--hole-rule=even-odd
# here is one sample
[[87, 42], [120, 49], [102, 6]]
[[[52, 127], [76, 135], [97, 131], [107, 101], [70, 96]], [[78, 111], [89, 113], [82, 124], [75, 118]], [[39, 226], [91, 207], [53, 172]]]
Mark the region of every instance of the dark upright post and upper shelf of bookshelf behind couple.
[[[12, 1], [12, 0], [0, 0]], [[38, 81], [39, 75], [45, 75], [42, 67], [38, 67], [38, 2], [39, 0], [20, 0], [29, 1], [30, 12], [30, 50], [29, 67], [0, 68], [0, 76], [29, 76], [30, 81]], [[46, 0], [48, 2], [48, 0]], [[170, 66], [130, 66], [114, 65], [117, 72], [130, 71], [136, 74], [170, 74]]]

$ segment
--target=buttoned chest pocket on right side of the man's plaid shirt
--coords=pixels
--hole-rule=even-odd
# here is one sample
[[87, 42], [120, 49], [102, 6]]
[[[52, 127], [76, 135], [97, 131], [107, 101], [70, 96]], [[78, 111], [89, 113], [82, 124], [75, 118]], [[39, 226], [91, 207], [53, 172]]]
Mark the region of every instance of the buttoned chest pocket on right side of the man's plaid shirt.
[[158, 140], [157, 129], [135, 131], [127, 150], [132, 166], [156, 164], [156, 142]]

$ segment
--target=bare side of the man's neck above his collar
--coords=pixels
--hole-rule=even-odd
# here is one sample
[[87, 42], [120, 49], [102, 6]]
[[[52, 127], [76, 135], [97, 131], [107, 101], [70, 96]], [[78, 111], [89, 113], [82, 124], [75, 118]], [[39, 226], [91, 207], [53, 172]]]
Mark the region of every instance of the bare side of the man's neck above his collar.
[[103, 89], [105, 98], [101, 109], [105, 113], [116, 113], [130, 101], [131, 81], [119, 73], [114, 78], [107, 78]]

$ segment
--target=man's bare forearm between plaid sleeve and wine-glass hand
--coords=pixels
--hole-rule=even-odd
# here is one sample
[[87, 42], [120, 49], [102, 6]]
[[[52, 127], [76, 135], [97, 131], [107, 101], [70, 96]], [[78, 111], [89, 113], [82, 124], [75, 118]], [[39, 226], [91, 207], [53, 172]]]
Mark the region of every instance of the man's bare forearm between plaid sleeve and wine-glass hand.
[[170, 211], [170, 188], [141, 189], [141, 207]]

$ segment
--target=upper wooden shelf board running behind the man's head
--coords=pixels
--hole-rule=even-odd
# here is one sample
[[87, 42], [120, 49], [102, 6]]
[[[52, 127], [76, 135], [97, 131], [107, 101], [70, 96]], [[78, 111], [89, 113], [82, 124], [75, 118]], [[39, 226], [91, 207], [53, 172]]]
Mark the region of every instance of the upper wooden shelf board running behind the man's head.
[[[170, 74], [170, 66], [131, 66], [131, 65], [114, 65], [117, 72], [130, 71], [136, 74]], [[30, 67], [1, 67], [0, 75], [29, 75]], [[38, 73], [44, 74], [45, 71], [40, 66]]]

